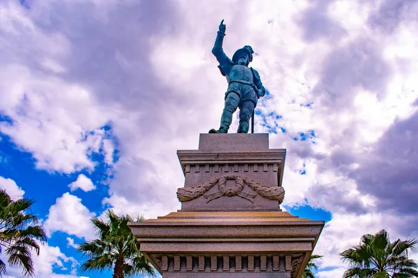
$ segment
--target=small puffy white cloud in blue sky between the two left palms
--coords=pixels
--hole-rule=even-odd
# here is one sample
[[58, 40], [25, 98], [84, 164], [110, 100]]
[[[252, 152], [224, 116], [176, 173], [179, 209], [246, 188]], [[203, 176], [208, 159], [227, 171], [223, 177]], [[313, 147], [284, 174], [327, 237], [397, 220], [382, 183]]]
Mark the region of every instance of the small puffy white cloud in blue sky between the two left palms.
[[44, 228], [49, 236], [54, 231], [63, 231], [69, 235], [90, 240], [94, 238], [93, 225], [90, 221], [93, 217], [95, 214], [88, 211], [88, 208], [82, 204], [82, 199], [70, 193], [64, 193], [49, 208]]

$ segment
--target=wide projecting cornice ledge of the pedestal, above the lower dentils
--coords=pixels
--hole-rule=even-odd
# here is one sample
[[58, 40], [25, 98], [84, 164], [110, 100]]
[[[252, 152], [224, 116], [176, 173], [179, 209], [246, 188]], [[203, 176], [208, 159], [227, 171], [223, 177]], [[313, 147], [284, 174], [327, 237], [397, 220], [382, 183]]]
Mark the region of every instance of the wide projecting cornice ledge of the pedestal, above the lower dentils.
[[[309, 238], [315, 240], [324, 221], [299, 218], [286, 211], [178, 211], [157, 219], [129, 222], [134, 236], [146, 238]], [[295, 229], [297, 227], [297, 229]], [[168, 233], [167, 233], [168, 231]]]

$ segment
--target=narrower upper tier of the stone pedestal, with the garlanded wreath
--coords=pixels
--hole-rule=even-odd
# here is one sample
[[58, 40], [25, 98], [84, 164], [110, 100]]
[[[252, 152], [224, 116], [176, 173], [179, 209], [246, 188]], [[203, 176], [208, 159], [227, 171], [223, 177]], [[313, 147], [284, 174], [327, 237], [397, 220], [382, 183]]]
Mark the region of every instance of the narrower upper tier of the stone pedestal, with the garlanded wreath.
[[[269, 149], [268, 134], [201, 134], [199, 149], [179, 150], [178, 158], [185, 174], [178, 190], [183, 211], [280, 211], [286, 149]], [[230, 177], [225, 184], [213, 183], [224, 177]], [[236, 190], [234, 177], [272, 188], [270, 195], [248, 182]]]

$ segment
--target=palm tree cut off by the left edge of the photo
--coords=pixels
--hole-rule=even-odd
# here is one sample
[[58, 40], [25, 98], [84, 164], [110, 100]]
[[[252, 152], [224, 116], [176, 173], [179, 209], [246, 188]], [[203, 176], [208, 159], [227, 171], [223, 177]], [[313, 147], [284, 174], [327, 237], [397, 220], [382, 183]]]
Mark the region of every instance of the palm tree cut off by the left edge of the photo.
[[[33, 199], [20, 198], [13, 201], [0, 189], [0, 252], [3, 249], [10, 265], [23, 268], [24, 276], [33, 276], [35, 269], [31, 251], [39, 255], [39, 243], [46, 243], [47, 237], [38, 218], [31, 212]], [[0, 260], [0, 276], [6, 274], [6, 263]]]

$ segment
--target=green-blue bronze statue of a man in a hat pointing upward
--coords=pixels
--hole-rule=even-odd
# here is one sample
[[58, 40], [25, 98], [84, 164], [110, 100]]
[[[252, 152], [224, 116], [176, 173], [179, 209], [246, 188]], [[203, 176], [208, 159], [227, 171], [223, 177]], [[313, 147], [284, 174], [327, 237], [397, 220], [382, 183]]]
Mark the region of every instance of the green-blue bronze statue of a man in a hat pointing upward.
[[257, 105], [257, 99], [265, 95], [265, 88], [261, 83], [260, 75], [248, 64], [252, 61], [253, 49], [246, 45], [235, 51], [232, 60], [226, 56], [222, 49], [226, 25], [224, 20], [219, 24], [219, 31], [212, 49], [219, 62], [221, 74], [226, 76], [228, 90], [225, 93], [225, 107], [221, 117], [219, 129], [210, 129], [209, 133], [228, 133], [232, 122], [232, 115], [240, 108], [240, 125], [238, 133], [248, 133], [249, 119]]

